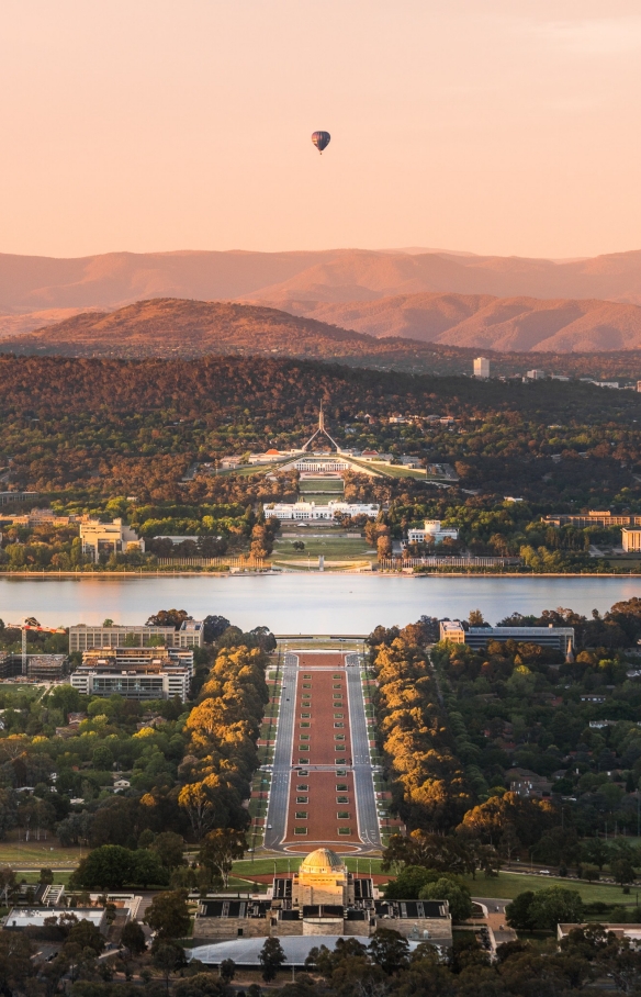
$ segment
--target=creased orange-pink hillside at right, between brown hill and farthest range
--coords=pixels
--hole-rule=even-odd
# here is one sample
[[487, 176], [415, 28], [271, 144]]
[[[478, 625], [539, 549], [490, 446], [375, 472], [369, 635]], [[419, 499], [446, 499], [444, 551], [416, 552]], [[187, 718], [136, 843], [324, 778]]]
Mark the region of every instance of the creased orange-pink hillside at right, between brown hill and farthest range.
[[598, 352], [641, 347], [641, 307], [594, 299], [430, 293], [290, 306], [295, 314], [371, 336], [474, 349]]

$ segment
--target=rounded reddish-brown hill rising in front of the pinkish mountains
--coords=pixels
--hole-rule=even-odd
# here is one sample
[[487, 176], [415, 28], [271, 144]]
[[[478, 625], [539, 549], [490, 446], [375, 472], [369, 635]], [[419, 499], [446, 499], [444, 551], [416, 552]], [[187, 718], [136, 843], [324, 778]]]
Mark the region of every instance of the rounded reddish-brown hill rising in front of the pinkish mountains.
[[[85, 312], [31, 335], [0, 340], [18, 356], [192, 358], [209, 354], [331, 359], [349, 367], [438, 376], [469, 374], [476, 348], [375, 338], [278, 309], [220, 301], [151, 299], [115, 312]], [[608, 380], [641, 378], [641, 350], [608, 354], [496, 352], [484, 350], [493, 373], [510, 377], [528, 367], [548, 373]]]

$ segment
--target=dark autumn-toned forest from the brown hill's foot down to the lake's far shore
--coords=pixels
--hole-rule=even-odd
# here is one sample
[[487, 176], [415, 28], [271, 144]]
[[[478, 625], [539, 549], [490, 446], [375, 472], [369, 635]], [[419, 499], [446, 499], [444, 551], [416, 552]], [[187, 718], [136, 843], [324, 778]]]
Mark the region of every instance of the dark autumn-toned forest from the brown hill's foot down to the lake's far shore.
[[[33, 504], [60, 513], [123, 516], [146, 540], [203, 538], [180, 551], [151, 542], [149, 556], [247, 551], [258, 504], [294, 501], [297, 475], [221, 473], [217, 462], [301, 446], [320, 401], [341, 446], [412, 456], [428, 469], [447, 463], [458, 475], [437, 488], [347, 473], [346, 497], [385, 506], [393, 539], [440, 518], [460, 533], [458, 546], [446, 547], [451, 553], [520, 556], [533, 571], [595, 570], [591, 545], [617, 546], [620, 533], [546, 527], [541, 516], [641, 512], [641, 397], [632, 392], [230, 357], [3, 357], [0, 378], [0, 471], [9, 484], [37, 490]], [[429, 418], [446, 415], [457, 422]], [[82, 567], [77, 533], [72, 524], [3, 529], [0, 559], [12, 569]], [[110, 567], [146, 562], [136, 552], [119, 558]]]

